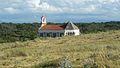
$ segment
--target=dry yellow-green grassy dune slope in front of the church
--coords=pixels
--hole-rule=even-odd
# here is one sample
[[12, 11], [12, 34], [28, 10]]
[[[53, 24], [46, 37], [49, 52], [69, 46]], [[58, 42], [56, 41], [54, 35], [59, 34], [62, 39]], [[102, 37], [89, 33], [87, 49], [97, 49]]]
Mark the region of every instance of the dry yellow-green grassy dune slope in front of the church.
[[0, 68], [120, 68], [120, 30], [0, 44]]

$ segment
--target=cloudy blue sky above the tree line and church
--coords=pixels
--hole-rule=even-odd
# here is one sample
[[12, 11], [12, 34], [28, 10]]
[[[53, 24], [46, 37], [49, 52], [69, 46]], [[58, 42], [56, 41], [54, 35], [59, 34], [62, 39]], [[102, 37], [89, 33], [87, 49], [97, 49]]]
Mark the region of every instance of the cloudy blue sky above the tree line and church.
[[0, 0], [0, 22], [120, 21], [120, 0]]

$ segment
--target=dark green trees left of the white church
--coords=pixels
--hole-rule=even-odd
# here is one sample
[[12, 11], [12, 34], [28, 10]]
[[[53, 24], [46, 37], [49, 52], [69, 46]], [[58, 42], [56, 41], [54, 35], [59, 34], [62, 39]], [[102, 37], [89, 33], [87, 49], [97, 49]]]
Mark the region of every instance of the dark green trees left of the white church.
[[37, 37], [38, 23], [1, 23], [0, 43], [33, 40]]

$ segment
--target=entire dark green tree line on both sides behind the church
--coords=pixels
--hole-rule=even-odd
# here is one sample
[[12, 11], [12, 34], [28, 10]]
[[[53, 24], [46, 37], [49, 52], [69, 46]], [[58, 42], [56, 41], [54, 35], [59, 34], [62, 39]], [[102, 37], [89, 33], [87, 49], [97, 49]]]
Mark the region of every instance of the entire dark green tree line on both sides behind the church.
[[[53, 24], [53, 23], [48, 23]], [[63, 24], [63, 23], [54, 23]], [[109, 30], [119, 30], [120, 22], [75, 23], [81, 33], [96, 33]], [[38, 37], [39, 23], [0, 23], [0, 43], [33, 40]]]

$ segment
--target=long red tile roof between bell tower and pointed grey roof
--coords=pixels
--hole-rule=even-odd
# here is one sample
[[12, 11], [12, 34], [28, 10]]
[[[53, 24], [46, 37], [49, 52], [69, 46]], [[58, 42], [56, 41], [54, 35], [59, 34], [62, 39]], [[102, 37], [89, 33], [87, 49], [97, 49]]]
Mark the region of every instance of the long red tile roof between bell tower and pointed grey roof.
[[41, 28], [41, 30], [64, 30], [64, 25], [56, 25], [56, 24], [49, 24], [45, 25]]

